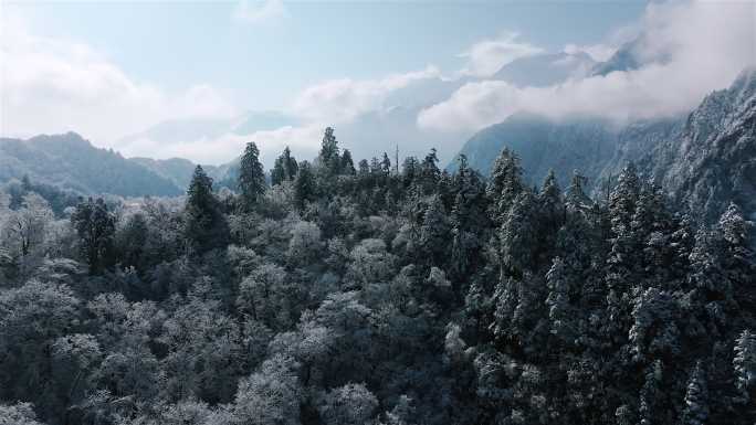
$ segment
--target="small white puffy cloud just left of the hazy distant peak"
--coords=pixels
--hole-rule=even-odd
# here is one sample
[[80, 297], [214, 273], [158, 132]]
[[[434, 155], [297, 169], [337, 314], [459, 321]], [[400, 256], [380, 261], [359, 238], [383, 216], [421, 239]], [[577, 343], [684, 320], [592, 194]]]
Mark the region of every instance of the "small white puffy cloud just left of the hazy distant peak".
[[543, 49], [519, 42], [517, 39], [517, 33], [505, 33], [497, 39], [483, 40], [473, 44], [466, 52], [459, 55], [468, 59], [462, 75], [487, 77], [517, 59], [544, 52]]

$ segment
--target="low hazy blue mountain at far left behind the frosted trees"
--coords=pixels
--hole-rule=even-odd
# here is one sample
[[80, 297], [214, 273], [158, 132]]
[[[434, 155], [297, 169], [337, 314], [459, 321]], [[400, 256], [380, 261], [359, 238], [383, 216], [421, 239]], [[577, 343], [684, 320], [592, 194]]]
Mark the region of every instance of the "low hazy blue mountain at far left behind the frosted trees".
[[75, 132], [0, 139], [0, 181], [22, 179], [55, 184], [82, 194], [178, 195], [183, 191], [138, 162], [98, 149]]

